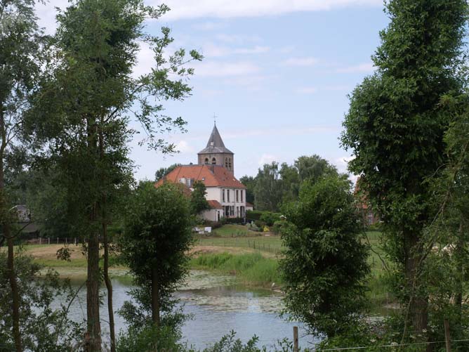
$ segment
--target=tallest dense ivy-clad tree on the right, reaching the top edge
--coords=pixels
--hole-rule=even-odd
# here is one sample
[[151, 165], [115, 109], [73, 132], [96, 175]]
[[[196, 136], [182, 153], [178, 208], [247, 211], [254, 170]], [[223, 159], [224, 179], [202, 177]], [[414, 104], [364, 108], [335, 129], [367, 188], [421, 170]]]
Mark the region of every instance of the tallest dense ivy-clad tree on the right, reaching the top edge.
[[440, 102], [461, 91], [467, 4], [394, 0], [386, 8], [376, 73], [353, 91], [341, 140], [355, 156], [350, 171], [384, 222], [388, 254], [404, 280], [406, 323], [420, 333], [428, 327], [423, 229], [435, 216], [428, 181], [446, 163], [449, 114]]

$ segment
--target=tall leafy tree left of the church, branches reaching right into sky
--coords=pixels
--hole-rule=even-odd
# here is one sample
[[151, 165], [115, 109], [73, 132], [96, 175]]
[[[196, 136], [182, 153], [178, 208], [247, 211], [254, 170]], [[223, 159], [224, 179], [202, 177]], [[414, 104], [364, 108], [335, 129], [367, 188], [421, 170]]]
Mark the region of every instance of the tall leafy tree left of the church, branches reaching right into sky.
[[[173, 39], [167, 27], [161, 37], [144, 31], [147, 18], [159, 18], [168, 8], [145, 6], [143, 0], [77, 0], [58, 15], [55, 37], [57, 60], [35, 100], [32, 130], [47, 141], [48, 156], [58, 165], [66, 190], [67, 213], [73, 230], [84, 234], [87, 246], [87, 347], [100, 351], [99, 241], [104, 243], [104, 277], [108, 290], [111, 350], [114, 351], [112, 287], [107, 275], [107, 223], [114, 190], [129, 180], [127, 143], [134, 136], [130, 116], [145, 136], [140, 143], [164, 153], [175, 145], [158, 138], [173, 129], [185, 131], [181, 117], [164, 114], [166, 100], [190, 94], [185, 67], [200, 60], [183, 49], [169, 58], [165, 49]], [[142, 43], [154, 52], [155, 67], [133, 77]]]

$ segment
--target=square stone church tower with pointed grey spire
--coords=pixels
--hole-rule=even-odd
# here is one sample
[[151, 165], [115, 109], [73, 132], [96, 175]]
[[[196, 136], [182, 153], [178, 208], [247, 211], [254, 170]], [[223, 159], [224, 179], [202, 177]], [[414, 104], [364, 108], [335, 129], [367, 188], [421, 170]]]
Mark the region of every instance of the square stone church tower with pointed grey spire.
[[221, 165], [234, 174], [234, 153], [225, 147], [216, 124], [213, 125], [206, 147], [197, 155], [199, 164]]

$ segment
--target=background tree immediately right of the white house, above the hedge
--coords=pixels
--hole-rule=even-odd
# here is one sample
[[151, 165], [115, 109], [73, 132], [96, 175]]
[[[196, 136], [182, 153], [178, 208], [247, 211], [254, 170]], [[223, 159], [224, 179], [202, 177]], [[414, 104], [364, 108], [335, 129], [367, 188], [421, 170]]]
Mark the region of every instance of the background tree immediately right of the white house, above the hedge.
[[279, 174], [279, 163], [265, 164], [256, 176], [254, 197], [256, 209], [277, 211], [282, 201], [282, 179]]

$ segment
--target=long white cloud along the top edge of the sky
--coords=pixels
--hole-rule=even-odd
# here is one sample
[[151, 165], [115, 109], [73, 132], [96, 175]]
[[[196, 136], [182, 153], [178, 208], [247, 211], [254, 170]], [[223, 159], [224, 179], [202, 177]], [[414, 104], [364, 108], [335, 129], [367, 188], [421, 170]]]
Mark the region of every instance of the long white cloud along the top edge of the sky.
[[[150, 4], [161, 4], [161, 0]], [[165, 20], [181, 18], [234, 18], [281, 15], [298, 11], [326, 11], [347, 6], [383, 6], [383, 0], [165, 0], [171, 8]]]

